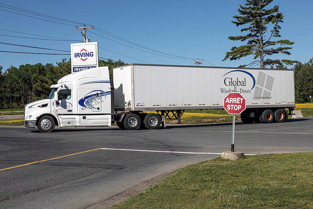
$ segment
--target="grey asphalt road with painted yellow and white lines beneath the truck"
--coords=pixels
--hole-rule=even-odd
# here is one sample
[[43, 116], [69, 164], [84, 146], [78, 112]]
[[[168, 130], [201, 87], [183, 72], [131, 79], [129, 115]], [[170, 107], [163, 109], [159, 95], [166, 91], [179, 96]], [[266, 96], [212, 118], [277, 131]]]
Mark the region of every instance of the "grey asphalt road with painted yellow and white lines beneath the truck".
[[[0, 140], [0, 208], [86, 208], [184, 165], [218, 157], [174, 152], [229, 150], [231, 124], [168, 125], [154, 131], [56, 128], [48, 134], [1, 126]], [[79, 153], [88, 150], [93, 151]], [[235, 150], [313, 152], [313, 118], [236, 123]], [[66, 156], [73, 153], [79, 154]], [[62, 158], [33, 163], [56, 157]], [[11, 168], [25, 163], [33, 164]]]

